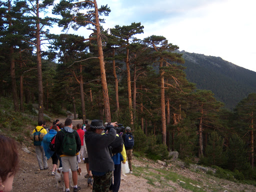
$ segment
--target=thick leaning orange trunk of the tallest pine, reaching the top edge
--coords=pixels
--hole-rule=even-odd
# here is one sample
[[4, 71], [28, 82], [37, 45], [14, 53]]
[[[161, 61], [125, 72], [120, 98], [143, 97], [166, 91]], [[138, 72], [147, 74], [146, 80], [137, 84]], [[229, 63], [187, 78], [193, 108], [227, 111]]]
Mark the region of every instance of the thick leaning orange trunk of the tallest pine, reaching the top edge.
[[98, 19], [98, 7], [97, 7], [96, 0], [93, 0], [93, 3], [95, 7], [97, 48], [98, 48], [99, 67], [100, 67], [100, 74], [101, 74], [105, 118], [106, 118], [106, 122], [111, 122], [110, 105], [109, 105], [106, 74], [105, 74], [105, 64], [104, 64], [104, 57], [103, 57], [103, 51], [102, 51], [100, 25], [99, 25], [99, 19]]

